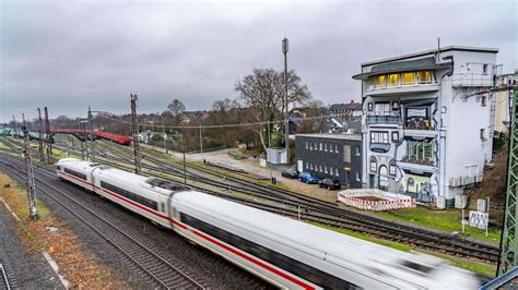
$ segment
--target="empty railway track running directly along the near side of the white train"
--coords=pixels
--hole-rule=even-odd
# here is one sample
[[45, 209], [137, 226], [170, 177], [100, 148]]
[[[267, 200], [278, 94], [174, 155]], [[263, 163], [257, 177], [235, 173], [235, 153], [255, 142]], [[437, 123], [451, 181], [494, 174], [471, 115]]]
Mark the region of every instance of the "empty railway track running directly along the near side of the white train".
[[[9, 158], [9, 162], [3, 158], [0, 167], [19, 181], [24, 181], [23, 164]], [[164, 289], [204, 289], [202, 279], [186, 274], [174, 262], [166, 261], [155, 251], [151, 250], [136, 238], [119, 229], [115, 223], [103, 218], [92, 209], [83, 205], [82, 202], [69, 196], [66, 192], [56, 189], [43, 178], [36, 177], [36, 189], [38, 193], [44, 193], [70, 214], [75, 216], [85, 226], [97, 233], [103, 240], [108, 242], [126, 261], [130, 262], [134, 268], [139, 269], [145, 277], [145, 281]]]

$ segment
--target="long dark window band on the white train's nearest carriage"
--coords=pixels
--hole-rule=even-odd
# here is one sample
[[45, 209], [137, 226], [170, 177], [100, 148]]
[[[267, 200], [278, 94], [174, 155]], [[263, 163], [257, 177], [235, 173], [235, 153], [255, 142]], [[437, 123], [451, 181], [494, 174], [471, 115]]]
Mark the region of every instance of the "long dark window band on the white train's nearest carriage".
[[282, 269], [285, 269], [298, 277], [302, 277], [326, 289], [356, 289], [357, 288], [353, 283], [350, 283], [345, 280], [334, 277], [320, 269], [314, 268], [292, 257], [289, 257], [279, 252], [270, 250], [266, 246], [251, 242], [239, 235], [233, 234], [232, 232], [227, 232], [223, 229], [214, 227], [208, 222], [204, 222], [187, 214], [180, 213], [180, 220], [184, 223], [189, 225], [190, 227], [196, 228], [207, 234], [210, 234], [217, 240], [221, 240], [227, 244], [231, 244], [244, 252], [247, 252], [254, 256], [257, 256], [272, 265], [275, 265]]

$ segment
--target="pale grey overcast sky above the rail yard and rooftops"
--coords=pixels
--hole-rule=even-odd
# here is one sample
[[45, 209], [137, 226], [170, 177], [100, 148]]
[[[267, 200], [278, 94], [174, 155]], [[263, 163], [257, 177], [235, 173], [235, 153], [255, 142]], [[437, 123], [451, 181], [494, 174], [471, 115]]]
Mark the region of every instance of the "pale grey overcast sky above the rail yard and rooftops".
[[254, 68], [289, 68], [325, 104], [360, 100], [360, 63], [466, 45], [499, 48], [517, 68], [516, 1], [0, 1], [0, 121], [85, 117], [87, 106], [188, 110], [235, 98]]

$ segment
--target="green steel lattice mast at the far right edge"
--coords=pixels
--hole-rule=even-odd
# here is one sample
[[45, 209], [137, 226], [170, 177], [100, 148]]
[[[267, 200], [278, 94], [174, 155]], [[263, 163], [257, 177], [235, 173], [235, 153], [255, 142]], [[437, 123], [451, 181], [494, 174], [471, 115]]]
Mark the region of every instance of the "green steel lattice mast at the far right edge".
[[514, 86], [513, 114], [510, 116], [509, 150], [507, 165], [507, 192], [504, 226], [501, 235], [501, 254], [497, 276], [518, 266], [518, 86]]

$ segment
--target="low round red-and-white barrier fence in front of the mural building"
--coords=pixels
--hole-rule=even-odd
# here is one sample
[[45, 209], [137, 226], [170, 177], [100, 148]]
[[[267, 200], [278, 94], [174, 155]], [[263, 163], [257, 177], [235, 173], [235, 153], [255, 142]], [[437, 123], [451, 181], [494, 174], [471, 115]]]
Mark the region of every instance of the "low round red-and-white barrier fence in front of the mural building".
[[[382, 201], [366, 201], [362, 197], [376, 197]], [[415, 198], [376, 189], [345, 190], [338, 193], [338, 200], [349, 206], [366, 210], [389, 210], [415, 207]]]

